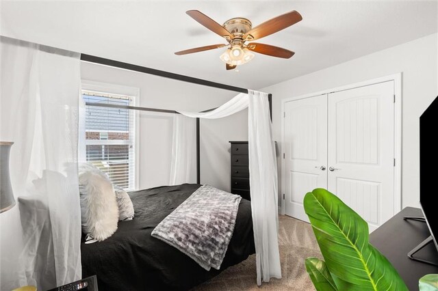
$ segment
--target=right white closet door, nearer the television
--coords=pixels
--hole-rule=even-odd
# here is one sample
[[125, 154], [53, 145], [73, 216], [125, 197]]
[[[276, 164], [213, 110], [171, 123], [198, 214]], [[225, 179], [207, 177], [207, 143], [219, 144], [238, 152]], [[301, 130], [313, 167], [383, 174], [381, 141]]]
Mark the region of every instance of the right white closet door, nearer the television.
[[376, 229], [394, 215], [394, 82], [329, 94], [328, 189]]

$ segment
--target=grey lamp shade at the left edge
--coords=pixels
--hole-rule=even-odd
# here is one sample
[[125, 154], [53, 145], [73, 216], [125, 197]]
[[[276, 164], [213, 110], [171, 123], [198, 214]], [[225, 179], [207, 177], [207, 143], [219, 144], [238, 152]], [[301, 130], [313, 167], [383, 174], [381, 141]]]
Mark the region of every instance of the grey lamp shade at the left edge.
[[12, 144], [12, 142], [0, 141], [0, 213], [10, 210], [15, 205], [9, 175], [9, 156]]

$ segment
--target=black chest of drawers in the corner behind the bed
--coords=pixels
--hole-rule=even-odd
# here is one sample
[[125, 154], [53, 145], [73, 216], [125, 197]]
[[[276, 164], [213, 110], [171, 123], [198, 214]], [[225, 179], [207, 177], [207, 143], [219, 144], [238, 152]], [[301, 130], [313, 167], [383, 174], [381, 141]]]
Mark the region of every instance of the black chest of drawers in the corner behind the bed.
[[250, 200], [248, 141], [231, 143], [231, 193]]

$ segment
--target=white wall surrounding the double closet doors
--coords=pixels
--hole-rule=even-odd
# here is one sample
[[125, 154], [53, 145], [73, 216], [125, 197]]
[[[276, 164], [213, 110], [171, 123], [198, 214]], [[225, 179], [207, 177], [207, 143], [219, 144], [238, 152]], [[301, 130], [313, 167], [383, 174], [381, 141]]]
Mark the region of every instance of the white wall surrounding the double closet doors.
[[419, 117], [438, 94], [437, 42], [434, 33], [261, 89], [273, 94], [274, 139], [281, 143], [282, 99], [402, 72], [402, 207], [418, 207]]

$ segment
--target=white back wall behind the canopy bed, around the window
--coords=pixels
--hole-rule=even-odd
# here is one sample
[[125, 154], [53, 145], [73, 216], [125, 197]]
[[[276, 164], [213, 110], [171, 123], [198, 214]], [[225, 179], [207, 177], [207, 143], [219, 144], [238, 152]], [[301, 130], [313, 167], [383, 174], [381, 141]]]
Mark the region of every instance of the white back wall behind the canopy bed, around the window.
[[[222, 105], [236, 92], [127, 70], [82, 63], [87, 81], [140, 88], [140, 107], [203, 111]], [[205, 76], [205, 79], [209, 79]], [[172, 115], [140, 113], [139, 188], [168, 184], [172, 153]], [[230, 140], [248, 139], [248, 113], [221, 120], [201, 120], [201, 183], [230, 190]]]

